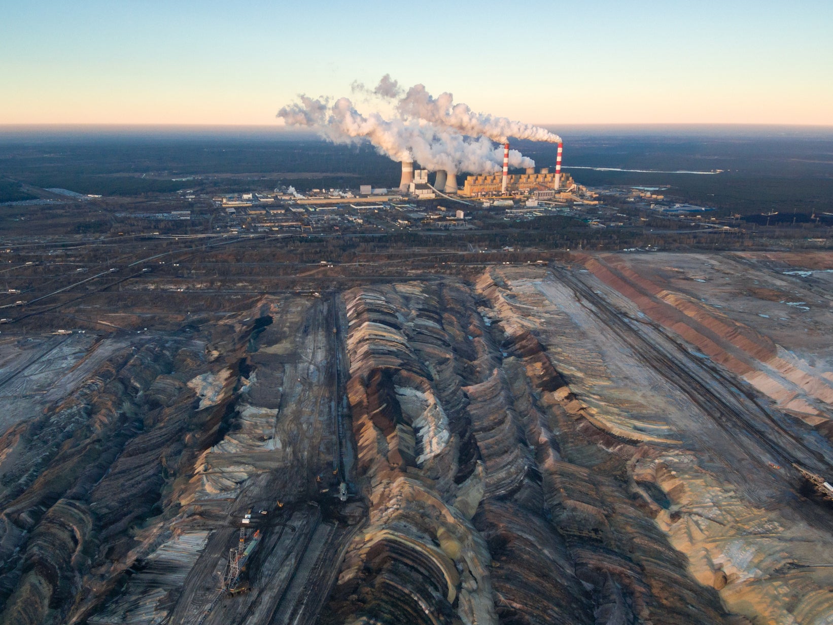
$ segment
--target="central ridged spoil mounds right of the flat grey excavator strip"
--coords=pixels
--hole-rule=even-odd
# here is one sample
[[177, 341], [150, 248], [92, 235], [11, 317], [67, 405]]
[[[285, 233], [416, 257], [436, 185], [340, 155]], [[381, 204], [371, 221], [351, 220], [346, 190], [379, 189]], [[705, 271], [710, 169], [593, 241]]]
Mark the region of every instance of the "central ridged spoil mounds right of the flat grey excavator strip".
[[323, 622], [727, 622], [500, 290], [346, 293], [371, 507]]

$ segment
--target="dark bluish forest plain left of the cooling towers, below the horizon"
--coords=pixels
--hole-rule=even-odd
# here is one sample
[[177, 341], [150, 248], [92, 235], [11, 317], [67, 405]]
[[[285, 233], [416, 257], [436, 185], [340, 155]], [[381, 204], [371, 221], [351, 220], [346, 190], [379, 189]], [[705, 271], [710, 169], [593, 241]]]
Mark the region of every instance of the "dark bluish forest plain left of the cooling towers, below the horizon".
[[[255, 183], [234, 178], [171, 180], [195, 175], [278, 173], [258, 181], [258, 188], [291, 184], [305, 190], [355, 188], [359, 183], [391, 187], [399, 183], [400, 173], [398, 163], [369, 146], [322, 141], [90, 138], [82, 143], [44, 146], [0, 145], [0, 158], [0, 173], [25, 183], [114, 196], [171, 193], [200, 186], [208, 192], [233, 193], [250, 190]], [[142, 173], [148, 175], [142, 178]], [[310, 173], [321, 175], [311, 177]]]

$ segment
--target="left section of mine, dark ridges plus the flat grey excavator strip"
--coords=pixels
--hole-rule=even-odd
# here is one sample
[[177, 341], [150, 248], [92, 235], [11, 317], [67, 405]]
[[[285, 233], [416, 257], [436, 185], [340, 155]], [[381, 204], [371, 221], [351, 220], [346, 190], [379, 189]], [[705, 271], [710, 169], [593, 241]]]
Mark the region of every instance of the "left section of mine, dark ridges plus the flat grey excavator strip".
[[[64, 349], [57, 379], [87, 377], [42, 414], [24, 402], [0, 439], [0, 622], [315, 622], [362, 517], [334, 497], [352, 471], [342, 315], [337, 298], [264, 298], [179, 333], [83, 339], [80, 360]], [[252, 591], [232, 599], [218, 573], [252, 510]]]

